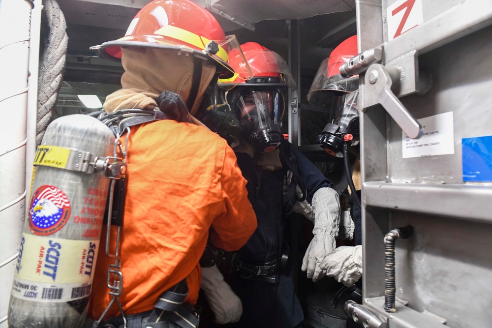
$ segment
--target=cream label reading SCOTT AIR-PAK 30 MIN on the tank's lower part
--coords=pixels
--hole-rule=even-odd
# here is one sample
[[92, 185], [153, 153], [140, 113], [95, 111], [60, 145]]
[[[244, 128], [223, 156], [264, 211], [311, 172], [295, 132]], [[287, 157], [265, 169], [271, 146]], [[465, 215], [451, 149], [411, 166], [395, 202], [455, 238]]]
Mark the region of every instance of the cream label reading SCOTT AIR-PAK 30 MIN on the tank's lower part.
[[24, 233], [12, 296], [66, 302], [90, 295], [99, 240], [69, 240]]

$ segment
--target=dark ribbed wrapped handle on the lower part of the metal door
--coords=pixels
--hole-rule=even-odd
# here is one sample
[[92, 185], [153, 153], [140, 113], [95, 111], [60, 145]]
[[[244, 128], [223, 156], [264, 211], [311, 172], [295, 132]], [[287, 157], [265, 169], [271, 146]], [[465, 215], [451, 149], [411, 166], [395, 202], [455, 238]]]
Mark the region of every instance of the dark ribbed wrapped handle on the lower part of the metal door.
[[384, 310], [396, 312], [395, 307], [395, 242], [398, 238], [407, 239], [413, 235], [411, 226], [396, 228], [384, 236]]

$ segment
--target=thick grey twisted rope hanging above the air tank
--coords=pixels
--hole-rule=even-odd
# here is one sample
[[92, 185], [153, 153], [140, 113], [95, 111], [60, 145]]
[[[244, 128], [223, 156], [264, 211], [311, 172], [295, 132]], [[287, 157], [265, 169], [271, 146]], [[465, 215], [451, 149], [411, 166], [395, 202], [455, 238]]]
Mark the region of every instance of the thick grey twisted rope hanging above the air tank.
[[57, 1], [43, 0], [41, 44], [37, 94], [36, 146], [41, 144], [44, 131], [53, 113], [62, 88], [66, 66], [68, 36], [65, 16]]

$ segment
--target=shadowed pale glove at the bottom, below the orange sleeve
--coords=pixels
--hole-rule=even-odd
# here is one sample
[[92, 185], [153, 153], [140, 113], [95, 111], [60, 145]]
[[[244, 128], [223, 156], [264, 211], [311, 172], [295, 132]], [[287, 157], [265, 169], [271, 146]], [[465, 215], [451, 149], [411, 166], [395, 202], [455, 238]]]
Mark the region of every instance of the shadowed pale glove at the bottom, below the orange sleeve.
[[217, 266], [202, 268], [200, 288], [205, 292], [210, 309], [214, 312], [215, 323], [227, 324], [239, 321], [243, 314], [243, 303], [224, 281], [224, 276]]

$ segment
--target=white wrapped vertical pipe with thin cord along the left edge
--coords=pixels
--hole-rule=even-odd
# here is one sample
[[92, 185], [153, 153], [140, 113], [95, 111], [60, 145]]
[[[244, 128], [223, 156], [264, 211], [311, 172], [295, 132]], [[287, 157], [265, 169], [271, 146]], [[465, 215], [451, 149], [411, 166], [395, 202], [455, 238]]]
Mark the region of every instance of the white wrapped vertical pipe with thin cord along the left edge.
[[31, 3], [0, 0], [0, 327], [7, 320], [25, 215], [30, 27]]

